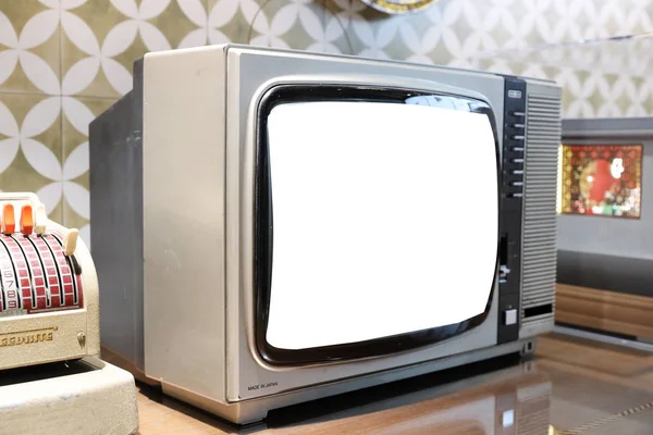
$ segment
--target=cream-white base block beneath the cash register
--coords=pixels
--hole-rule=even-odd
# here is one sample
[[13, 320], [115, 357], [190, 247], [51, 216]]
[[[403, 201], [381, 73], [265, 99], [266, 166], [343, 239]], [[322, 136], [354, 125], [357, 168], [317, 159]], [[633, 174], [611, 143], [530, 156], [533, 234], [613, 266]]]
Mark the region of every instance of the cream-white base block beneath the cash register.
[[0, 434], [127, 435], [137, 430], [134, 377], [97, 358], [0, 372]]

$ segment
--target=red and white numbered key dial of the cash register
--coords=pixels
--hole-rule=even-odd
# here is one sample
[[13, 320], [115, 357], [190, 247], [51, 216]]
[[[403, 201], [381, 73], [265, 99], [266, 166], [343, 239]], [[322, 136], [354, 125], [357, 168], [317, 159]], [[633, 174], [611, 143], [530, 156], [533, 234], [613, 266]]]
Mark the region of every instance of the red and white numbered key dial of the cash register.
[[0, 234], [0, 315], [83, 308], [81, 275], [64, 254], [62, 235], [8, 226]]

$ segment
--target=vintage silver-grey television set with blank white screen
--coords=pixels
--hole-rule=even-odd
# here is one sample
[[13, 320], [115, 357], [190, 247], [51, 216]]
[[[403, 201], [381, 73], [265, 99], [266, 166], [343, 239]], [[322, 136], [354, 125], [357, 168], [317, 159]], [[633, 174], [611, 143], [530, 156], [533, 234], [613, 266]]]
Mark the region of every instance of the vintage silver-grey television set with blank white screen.
[[552, 82], [248, 46], [148, 53], [90, 125], [103, 355], [247, 423], [531, 352]]

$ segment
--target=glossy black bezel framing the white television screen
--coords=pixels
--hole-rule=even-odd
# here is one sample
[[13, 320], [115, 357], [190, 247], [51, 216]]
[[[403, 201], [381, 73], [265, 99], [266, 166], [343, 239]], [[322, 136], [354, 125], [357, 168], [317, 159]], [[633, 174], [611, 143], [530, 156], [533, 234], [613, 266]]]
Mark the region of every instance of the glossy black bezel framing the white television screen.
[[[495, 273], [484, 311], [459, 323], [358, 343], [347, 343], [306, 349], [280, 349], [271, 346], [266, 338], [270, 308], [273, 251], [273, 209], [268, 151], [268, 115], [275, 105], [291, 102], [372, 101], [407, 103], [407, 99], [420, 96], [456, 100], [458, 104], [454, 104], [455, 108], [452, 107], [445, 109], [464, 110], [463, 108], [466, 108], [469, 112], [482, 113], [489, 117], [492, 126], [497, 174], [497, 249], [495, 256]], [[317, 86], [308, 84], [276, 85], [269, 89], [259, 100], [256, 111], [255, 137], [252, 259], [255, 311], [254, 332], [256, 349], [266, 362], [270, 363], [271, 365], [308, 365], [387, 356], [443, 341], [456, 335], [468, 332], [485, 321], [491, 310], [492, 299], [497, 281], [496, 271], [498, 268], [502, 182], [501, 152], [496, 128], [496, 117], [490, 104], [488, 104], [485, 101], [463, 95], [422, 91], [398, 87], [385, 88], [379, 86], [344, 86], [331, 84]]]

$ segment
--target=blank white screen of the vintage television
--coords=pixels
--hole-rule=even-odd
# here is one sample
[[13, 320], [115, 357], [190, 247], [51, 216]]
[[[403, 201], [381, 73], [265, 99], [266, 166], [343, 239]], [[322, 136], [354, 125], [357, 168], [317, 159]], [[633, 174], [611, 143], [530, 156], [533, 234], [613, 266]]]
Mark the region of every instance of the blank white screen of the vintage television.
[[271, 110], [268, 140], [271, 346], [358, 343], [484, 312], [498, 227], [486, 115], [289, 102]]

